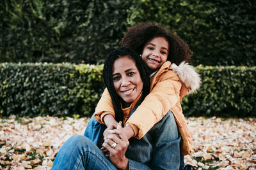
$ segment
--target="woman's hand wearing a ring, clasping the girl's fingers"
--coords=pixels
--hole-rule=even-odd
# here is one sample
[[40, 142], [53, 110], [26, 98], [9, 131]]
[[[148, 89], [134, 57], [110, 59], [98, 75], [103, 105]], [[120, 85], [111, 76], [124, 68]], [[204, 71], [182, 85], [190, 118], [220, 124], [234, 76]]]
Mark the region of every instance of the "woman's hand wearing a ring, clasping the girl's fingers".
[[102, 146], [109, 151], [109, 159], [118, 169], [128, 169], [129, 162], [125, 157], [125, 152], [129, 146], [129, 141], [124, 134], [122, 134], [121, 123], [117, 124], [115, 130], [109, 130], [108, 136]]

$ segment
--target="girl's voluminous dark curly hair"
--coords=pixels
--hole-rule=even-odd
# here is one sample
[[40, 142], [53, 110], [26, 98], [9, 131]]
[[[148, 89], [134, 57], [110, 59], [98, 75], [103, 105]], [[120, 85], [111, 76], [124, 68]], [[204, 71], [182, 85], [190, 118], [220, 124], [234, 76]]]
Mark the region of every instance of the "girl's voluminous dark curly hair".
[[190, 58], [193, 52], [189, 49], [189, 46], [179, 36], [152, 22], [134, 25], [129, 28], [120, 44], [137, 53], [142, 53], [145, 44], [155, 37], [164, 37], [168, 41], [169, 55], [167, 60], [178, 66], [184, 60], [191, 62]]

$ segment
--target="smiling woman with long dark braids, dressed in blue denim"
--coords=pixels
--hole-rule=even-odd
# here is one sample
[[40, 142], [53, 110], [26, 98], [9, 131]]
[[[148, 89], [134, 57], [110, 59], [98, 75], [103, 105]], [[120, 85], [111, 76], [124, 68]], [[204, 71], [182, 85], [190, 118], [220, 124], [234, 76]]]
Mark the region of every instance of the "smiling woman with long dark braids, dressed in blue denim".
[[143, 60], [127, 48], [119, 48], [109, 54], [103, 73], [116, 121], [122, 122], [104, 139], [107, 157], [99, 149], [101, 145], [97, 147], [85, 136], [72, 136], [61, 146], [52, 169], [179, 169], [180, 136], [171, 111], [141, 139], [128, 140], [120, 133], [133, 108], [149, 92]]

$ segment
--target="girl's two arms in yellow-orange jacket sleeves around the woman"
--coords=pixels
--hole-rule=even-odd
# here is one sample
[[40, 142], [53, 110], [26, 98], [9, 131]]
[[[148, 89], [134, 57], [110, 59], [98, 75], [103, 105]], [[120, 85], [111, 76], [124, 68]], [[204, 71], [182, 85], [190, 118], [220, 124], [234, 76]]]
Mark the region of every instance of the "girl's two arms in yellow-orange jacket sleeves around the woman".
[[[127, 138], [131, 138], [133, 133], [135, 138], [142, 138], [154, 124], [159, 122], [164, 115], [179, 101], [179, 90], [181, 82], [179, 77], [173, 71], [167, 71], [161, 74], [156, 85], [154, 85], [150, 94], [145, 97], [144, 101], [138, 106], [137, 110], [127, 120], [125, 125], [132, 128], [125, 128], [124, 133]], [[107, 120], [111, 116], [112, 120]], [[106, 120], [104, 119], [106, 117]], [[115, 120], [115, 111], [111, 97], [107, 89], [104, 90], [102, 97], [95, 111], [95, 118], [101, 123], [113, 125]], [[112, 122], [111, 122], [112, 121]], [[117, 122], [115, 122], [117, 124]], [[125, 126], [126, 127], [126, 126]], [[105, 135], [104, 135], [105, 136]]]

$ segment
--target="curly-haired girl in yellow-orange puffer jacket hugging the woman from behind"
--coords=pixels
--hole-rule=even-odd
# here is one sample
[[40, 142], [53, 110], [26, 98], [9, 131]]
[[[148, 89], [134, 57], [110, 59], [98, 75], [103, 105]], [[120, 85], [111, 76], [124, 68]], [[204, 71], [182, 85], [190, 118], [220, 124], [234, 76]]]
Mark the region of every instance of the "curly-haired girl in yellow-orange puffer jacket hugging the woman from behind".
[[[140, 53], [151, 74], [150, 94], [125, 123], [124, 134], [128, 139], [132, 136], [142, 138], [170, 110], [182, 136], [180, 153], [191, 154], [191, 134], [180, 102], [186, 94], [199, 88], [200, 77], [188, 64], [192, 55], [188, 45], [179, 36], [152, 23], [131, 27], [121, 45]], [[132, 90], [122, 93], [129, 96]], [[115, 112], [107, 90], [97, 104], [95, 118], [106, 124], [107, 130], [116, 128]], [[104, 133], [105, 136], [108, 131]]]

